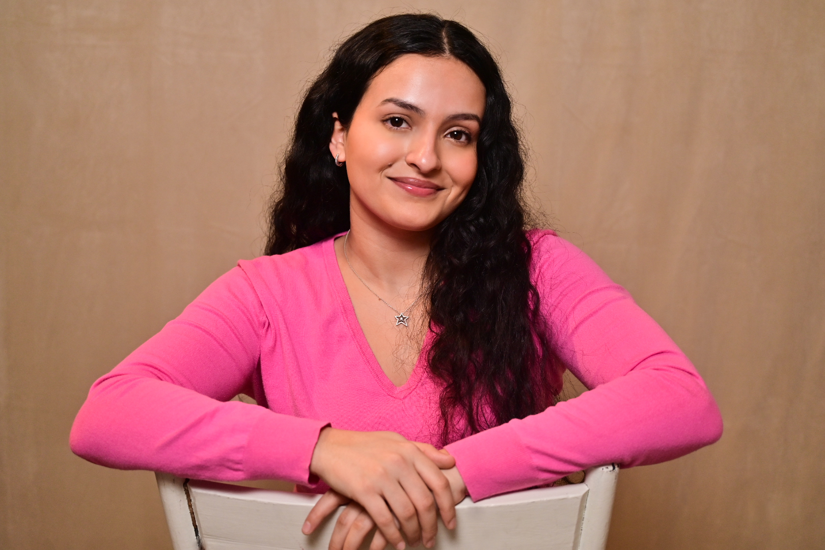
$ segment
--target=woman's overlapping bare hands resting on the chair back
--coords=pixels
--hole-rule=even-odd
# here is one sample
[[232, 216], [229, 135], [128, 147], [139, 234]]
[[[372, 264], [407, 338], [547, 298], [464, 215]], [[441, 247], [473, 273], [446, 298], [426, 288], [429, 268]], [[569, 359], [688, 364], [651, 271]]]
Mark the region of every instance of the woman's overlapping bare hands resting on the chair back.
[[[356, 550], [375, 527], [370, 550], [389, 542], [398, 550], [436, 542], [437, 515], [455, 528], [455, 505], [466, 487], [455, 458], [430, 444], [406, 440], [391, 431], [321, 431], [309, 469], [327, 482], [327, 491], [309, 512], [304, 534], [310, 534], [338, 506], [330, 550]], [[437, 506], [437, 507], [436, 507]]]

